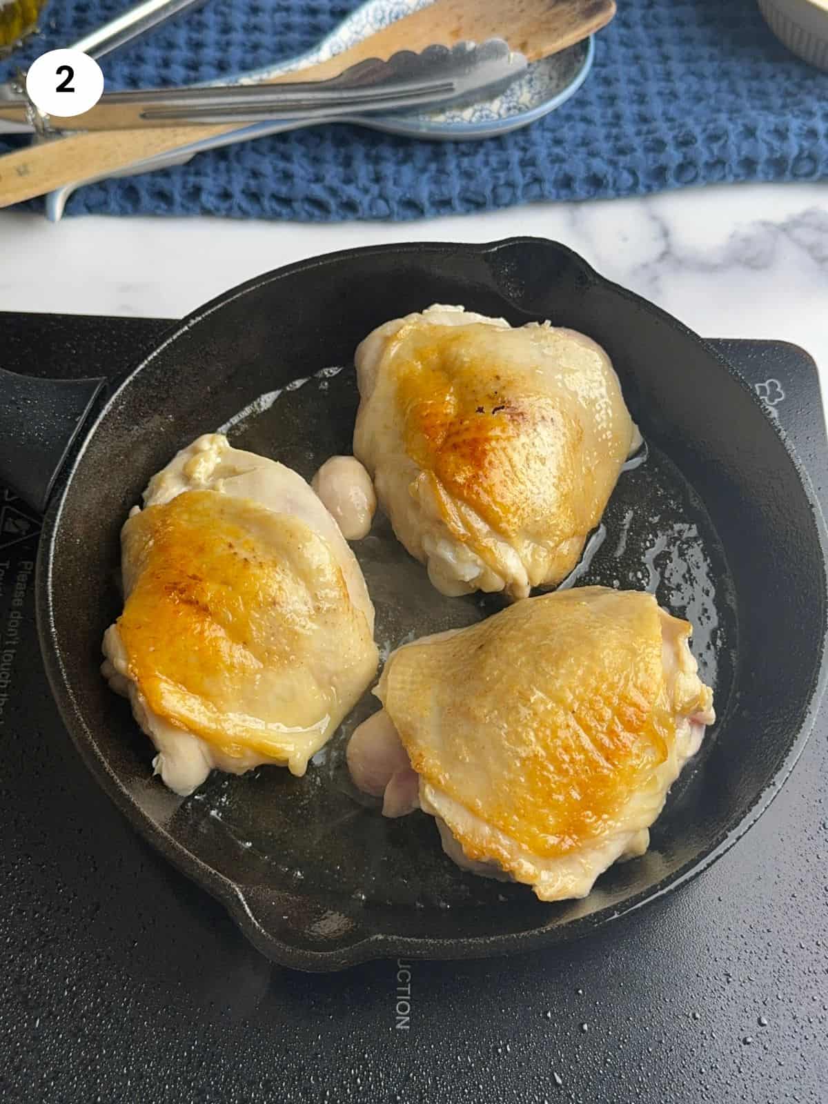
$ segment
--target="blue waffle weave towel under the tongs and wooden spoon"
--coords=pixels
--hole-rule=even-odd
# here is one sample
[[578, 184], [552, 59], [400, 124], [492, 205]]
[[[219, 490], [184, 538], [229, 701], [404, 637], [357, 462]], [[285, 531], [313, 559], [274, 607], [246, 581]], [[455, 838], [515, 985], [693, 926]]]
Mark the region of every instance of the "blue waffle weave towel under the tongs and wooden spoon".
[[[25, 65], [123, 10], [52, 0]], [[209, 0], [104, 62], [110, 86], [220, 78], [308, 50], [357, 0]], [[11, 66], [7, 65], [10, 71]], [[263, 138], [77, 192], [71, 214], [417, 219], [531, 200], [828, 177], [828, 75], [772, 35], [755, 0], [620, 0], [592, 74], [563, 107], [479, 142], [346, 126]]]

